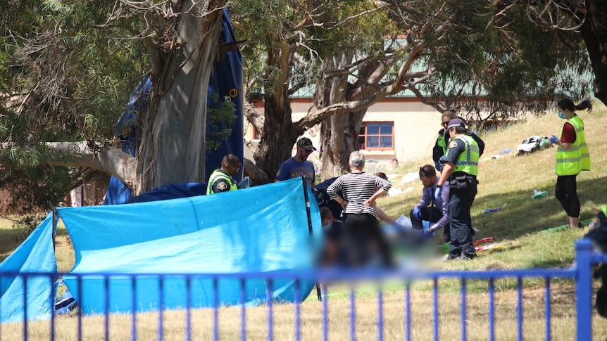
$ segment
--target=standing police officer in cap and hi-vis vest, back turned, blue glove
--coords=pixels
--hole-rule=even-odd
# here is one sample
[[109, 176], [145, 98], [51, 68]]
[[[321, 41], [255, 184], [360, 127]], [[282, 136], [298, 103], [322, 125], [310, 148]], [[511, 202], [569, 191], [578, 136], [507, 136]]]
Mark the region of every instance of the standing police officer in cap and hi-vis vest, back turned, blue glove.
[[475, 139], [467, 134], [468, 129], [461, 119], [450, 120], [446, 130], [449, 131], [451, 141], [434, 198], [440, 198], [442, 185], [449, 181], [449, 259], [473, 259], [476, 252], [472, 240], [470, 208], [477, 194], [479, 146]]

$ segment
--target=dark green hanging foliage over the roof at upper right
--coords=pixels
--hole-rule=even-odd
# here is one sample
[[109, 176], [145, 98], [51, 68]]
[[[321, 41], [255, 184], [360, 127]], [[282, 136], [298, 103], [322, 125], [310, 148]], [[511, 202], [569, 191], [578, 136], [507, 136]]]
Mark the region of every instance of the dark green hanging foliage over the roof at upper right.
[[[547, 31], [528, 20], [525, 6], [496, 16], [484, 4], [453, 4], [450, 20], [463, 25], [425, 57], [437, 75], [422, 89], [434, 98], [458, 101], [463, 111], [475, 114], [488, 105], [493, 115], [518, 115], [523, 107], [544, 110], [549, 103], [528, 98], [589, 94], [590, 64], [576, 32]], [[478, 96], [488, 101], [478, 103]]]

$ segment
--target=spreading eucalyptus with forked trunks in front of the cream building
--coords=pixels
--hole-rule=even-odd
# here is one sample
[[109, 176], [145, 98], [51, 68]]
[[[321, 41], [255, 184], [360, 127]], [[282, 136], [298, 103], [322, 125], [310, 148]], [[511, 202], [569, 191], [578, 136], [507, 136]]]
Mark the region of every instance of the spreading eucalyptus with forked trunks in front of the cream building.
[[[249, 39], [247, 98], [265, 103], [264, 115], [249, 111], [261, 132], [254, 157], [270, 176], [296, 137], [319, 122], [321, 171], [344, 172], [363, 115], [386, 96], [408, 92], [439, 111], [457, 107], [469, 119], [489, 120], [542, 110], [558, 91], [587, 91], [575, 82], [586, 61], [575, 32], [547, 32], [522, 10], [506, 15], [475, 0], [259, 6], [239, 17], [239, 27]], [[303, 90], [318, 110], [292, 122], [289, 96]]]

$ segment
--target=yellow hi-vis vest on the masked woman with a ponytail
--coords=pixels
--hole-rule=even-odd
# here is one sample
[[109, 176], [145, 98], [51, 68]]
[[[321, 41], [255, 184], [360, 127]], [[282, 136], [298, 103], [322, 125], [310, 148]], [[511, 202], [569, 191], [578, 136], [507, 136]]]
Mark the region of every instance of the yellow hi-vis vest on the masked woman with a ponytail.
[[[556, 175], [575, 175], [590, 170], [590, 153], [584, 137], [584, 122], [578, 116], [568, 121], [575, 129], [575, 142], [571, 148], [556, 148]], [[560, 138], [561, 136], [559, 136]]]

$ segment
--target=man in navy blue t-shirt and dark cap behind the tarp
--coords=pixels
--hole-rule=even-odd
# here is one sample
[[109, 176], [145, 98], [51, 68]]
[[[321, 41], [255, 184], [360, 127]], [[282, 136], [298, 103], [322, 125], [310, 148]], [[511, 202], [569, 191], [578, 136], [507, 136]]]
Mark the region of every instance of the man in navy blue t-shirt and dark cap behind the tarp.
[[316, 148], [312, 146], [312, 141], [310, 139], [307, 137], [299, 139], [299, 141], [297, 141], [297, 152], [295, 156], [282, 162], [276, 173], [275, 182], [306, 176], [308, 186], [314, 188], [316, 172], [313, 163], [308, 161], [308, 156], [314, 150], [316, 150]]

